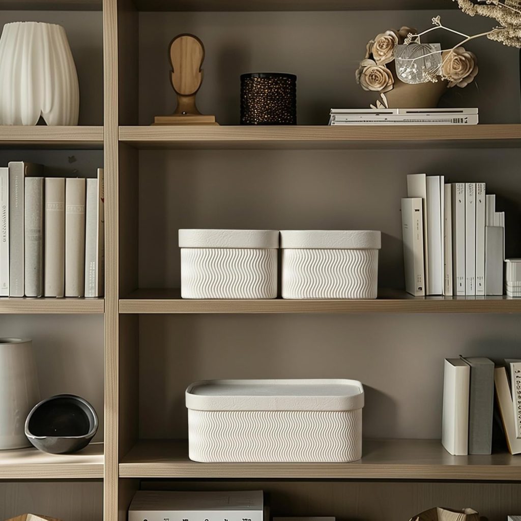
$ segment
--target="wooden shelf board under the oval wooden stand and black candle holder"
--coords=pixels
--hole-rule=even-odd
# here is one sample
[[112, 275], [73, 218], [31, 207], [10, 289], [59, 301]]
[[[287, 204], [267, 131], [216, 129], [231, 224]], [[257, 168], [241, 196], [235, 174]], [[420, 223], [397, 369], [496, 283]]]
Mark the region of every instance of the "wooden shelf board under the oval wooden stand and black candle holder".
[[521, 147], [521, 125], [463, 126], [136, 126], [119, 140], [140, 148]]

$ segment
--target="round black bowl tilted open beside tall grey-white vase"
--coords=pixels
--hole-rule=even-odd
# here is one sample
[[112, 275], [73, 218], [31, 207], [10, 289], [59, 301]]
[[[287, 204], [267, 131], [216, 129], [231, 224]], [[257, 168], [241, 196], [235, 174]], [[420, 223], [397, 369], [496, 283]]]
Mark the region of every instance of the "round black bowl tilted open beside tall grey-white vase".
[[32, 408], [25, 432], [36, 449], [68, 454], [86, 447], [97, 428], [96, 411], [88, 401], [74, 394], [58, 394]]

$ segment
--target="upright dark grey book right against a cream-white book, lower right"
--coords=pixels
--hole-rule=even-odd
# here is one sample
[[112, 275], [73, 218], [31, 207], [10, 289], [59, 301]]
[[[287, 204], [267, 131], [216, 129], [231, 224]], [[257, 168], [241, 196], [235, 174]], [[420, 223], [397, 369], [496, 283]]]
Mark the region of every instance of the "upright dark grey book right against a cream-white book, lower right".
[[488, 358], [463, 358], [470, 366], [468, 453], [492, 453], [494, 363]]

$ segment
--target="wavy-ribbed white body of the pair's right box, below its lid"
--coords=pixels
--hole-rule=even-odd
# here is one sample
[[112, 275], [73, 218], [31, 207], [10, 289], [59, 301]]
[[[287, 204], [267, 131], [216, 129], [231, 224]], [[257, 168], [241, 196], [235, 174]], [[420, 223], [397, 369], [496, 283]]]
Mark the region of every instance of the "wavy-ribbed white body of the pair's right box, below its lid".
[[376, 299], [378, 250], [283, 249], [284, 299]]

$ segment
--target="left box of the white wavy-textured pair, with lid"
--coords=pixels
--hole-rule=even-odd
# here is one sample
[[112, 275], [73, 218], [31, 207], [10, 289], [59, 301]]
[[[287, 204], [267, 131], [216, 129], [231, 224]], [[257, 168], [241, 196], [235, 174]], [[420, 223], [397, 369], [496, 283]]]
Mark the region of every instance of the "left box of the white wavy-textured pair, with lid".
[[275, 299], [277, 230], [179, 230], [183, 299]]

